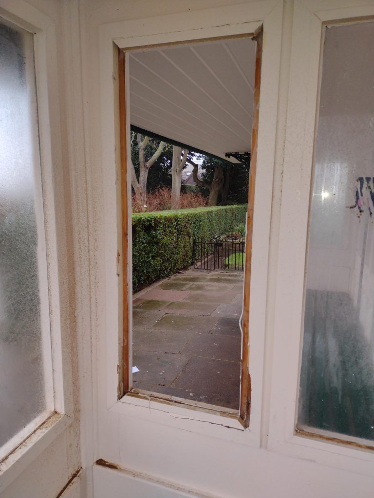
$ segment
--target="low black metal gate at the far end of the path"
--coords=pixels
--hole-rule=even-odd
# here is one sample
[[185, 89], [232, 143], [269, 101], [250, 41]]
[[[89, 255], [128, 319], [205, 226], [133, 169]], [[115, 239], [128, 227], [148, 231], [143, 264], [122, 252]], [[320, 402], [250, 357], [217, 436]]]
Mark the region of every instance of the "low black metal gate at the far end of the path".
[[193, 267], [200, 270], [244, 271], [245, 242], [238, 237], [193, 241]]

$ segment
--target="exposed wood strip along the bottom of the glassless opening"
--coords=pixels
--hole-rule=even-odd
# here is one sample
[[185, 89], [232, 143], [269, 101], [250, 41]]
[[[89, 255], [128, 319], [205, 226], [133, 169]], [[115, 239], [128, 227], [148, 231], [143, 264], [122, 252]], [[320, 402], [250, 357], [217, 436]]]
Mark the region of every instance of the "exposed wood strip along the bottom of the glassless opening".
[[207, 413], [214, 413], [221, 417], [228, 417], [239, 420], [239, 411], [231, 410], [230, 408], [225, 408], [223, 406], [211, 405], [208, 403], [203, 403], [200, 401], [192, 401], [185, 398], [179, 398], [177, 396], [170, 396], [168, 394], [155, 393], [152, 391], [146, 391], [142, 389], [131, 389], [126, 396], [132, 396], [139, 399], [146, 399], [147, 401], [156, 401], [163, 404], [169, 405], [183, 405], [185, 408], [191, 410], [205, 411]]

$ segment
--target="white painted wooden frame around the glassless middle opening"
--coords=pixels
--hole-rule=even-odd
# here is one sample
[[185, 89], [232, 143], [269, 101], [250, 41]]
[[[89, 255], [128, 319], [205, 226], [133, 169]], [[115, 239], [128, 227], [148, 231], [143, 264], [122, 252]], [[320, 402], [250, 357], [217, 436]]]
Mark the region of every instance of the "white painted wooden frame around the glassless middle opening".
[[[269, 246], [270, 215], [271, 215], [271, 186], [273, 183], [276, 119], [277, 119], [277, 94], [280, 66], [282, 5], [277, 0], [261, 0], [251, 4], [219, 7], [205, 11], [185, 12], [166, 16], [137, 19], [110, 23], [100, 26], [100, 88], [101, 88], [101, 116], [102, 116], [102, 143], [101, 154], [103, 158], [102, 192], [105, 205], [105, 289], [99, 289], [100, 300], [105, 302], [105, 336], [100, 339], [99, 350], [106, 351], [105, 361], [100, 362], [100, 377], [106, 379], [100, 389], [99, 397], [105, 392], [107, 409], [115, 413], [128, 415], [139, 413], [142, 418], [155, 419], [155, 412], [148, 407], [154, 407], [163, 413], [165, 423], [175, 425], [176, 419], [172, 413], [184, 417], [191, 416], [190, 410], [181, 406], [168, 406], [158, 401], [145, 401], [135, 397], [124, 396], [117, 400], [119, 344], [121, 343], [121, 286], [117, 276], [117, 249], [120, 250], [121, 234], [119, 233], [118, 213], [120, 213], [120, 191], [118, 181], [119, 142], [118, 142], [118, 106], [116, 81], [113, 83], [112, 75], [117, 74], [116, 57], [113, 55], [113, 46], [118, 48], [131, 48], [160, 43], [174, 43], [193, 41], [198, 39], [216, 38], [256, 32], [261, 25], [264, 29], [264, 42], [262, 54], [262, 79], [260, 95], [259, 139], [258, 139], [258, 169], [256, 173], [256, 190], [261, 195], [255, 198], [252, 274], [251, 285], [256, 288], [256, 293], [251, 295], [249, 330], [251, 352], [249, 369], [252, 378], [252, 409], [250, 438], [252, 444], [259, 444], [261, 404], [262, 404], [262, 371], [263, 348], [265, 329], [265, 305], [267, 282], [267, 253]], [[165, 30], [165, 26], [172, 29]], [[116, 50], [114, 51], [116, 52]], [[126, 75], [129, 78], [129, 75]], [[129, 85], [127, 85], [128, 88]], [[113, 120], [113, 116], [116, 117]], [[128, 122], [128, 132], [130, 124]], [[128, 150], [128, 155], [130, 149]], [[129, 193], [131, 189], [131, 171], [128, 171]], [[116, 189], [117, 185], [117, 189]], [[97, 194], [99, 195], [99, 193]], [[96, 196], [97, 197], [97, 196]], [[129, 195], [131, 202], [131, 196]], [[264, 209], [266, 207], [266, 209]], [[129, 224], [131, 225], [131, 207], [129, 209]], [[131, 231], [130, 231], [131, 232]], [[131, 241], [129, 241], [130, 243]], [[98, 262], [100, 264], [100, 262]], [[127, 261], [131, 281], [131, 260]], [[131, 287], [131, 286], [130, 286]], [[103, 289], [104, 290], [104, 289]], [[130, 300], [131, 302], [131, 296]], [[130, 324], [131, 328], [131, 324]], [[251, 333], [252, 331], [252, 333]], [[105, 348], [105, 349], [104, 349]], [[101, 401], [102, 402], [102, 401]], [[194, 412], [195, 418], [201, 418], [203, 423], [199, 430], [205, 432], [207, 420], [212, 420], [215, 425], [230, 425], [242, 427], [236, 420], [223, 418], [219, 415]], [[181, 427], [186, 421], [180, 423]], [[220, 431], [222, 431], [220, 429]], [[240, 432], [239, 431], [239, 432]]]

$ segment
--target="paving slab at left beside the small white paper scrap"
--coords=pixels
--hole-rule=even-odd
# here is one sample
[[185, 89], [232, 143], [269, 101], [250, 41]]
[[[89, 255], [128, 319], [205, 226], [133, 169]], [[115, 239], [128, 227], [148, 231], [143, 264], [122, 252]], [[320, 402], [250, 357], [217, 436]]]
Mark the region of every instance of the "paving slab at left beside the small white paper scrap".
[[183, 355], [133, 350], [133, 365], [139, 369], [133, 374], [133, 379], [136, 382], [171, 384], [187, 361]]

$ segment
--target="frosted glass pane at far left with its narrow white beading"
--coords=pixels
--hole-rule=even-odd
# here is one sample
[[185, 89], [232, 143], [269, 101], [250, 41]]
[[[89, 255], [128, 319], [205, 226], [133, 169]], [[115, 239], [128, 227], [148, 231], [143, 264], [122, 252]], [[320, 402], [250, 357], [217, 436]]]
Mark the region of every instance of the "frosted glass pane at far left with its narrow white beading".
[[33, 37], [0, 18], [0, 454], [51, 409], [40, 206]]

